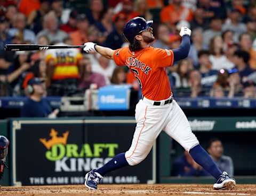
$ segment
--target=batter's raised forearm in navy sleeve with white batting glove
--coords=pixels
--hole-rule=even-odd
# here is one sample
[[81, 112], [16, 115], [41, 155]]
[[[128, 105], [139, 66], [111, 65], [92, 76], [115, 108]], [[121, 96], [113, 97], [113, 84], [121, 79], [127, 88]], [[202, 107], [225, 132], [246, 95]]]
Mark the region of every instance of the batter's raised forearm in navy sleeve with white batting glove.
[[188, 57], [188, 53], [190, 50], [190, 35], [191, 35], [191, 30], [187, 27], [182, 27], [180, 30], [180, 36], [182, 37], [181, 44], [179, 48], [173, 49], [173, 58], [174, 62], [179, 61], [183, 58]]

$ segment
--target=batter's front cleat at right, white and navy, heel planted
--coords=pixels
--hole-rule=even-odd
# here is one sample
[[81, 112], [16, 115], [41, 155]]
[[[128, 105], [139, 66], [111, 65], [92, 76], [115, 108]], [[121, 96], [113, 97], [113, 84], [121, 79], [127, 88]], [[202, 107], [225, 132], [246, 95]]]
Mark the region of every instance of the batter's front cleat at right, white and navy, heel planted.
[[227, 172], [223, 172], [218, 178], [213, 188], [215, 190], [232, 190], [236, 186], [236, 180], [228, 176]]

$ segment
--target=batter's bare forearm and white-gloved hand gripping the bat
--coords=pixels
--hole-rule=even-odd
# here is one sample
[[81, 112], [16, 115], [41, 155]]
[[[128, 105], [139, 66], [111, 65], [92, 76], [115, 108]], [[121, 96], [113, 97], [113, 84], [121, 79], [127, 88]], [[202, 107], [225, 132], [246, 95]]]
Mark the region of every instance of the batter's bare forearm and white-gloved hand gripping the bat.
[[86, 42], [84, 44], [84, 51], [86, 53], [95, 53], [98, 52], [102, 56], [108, 58], [108, 59], [114, 59], [114, 53], [115, 50], [103, 46], [99, 46], [93, 42]]

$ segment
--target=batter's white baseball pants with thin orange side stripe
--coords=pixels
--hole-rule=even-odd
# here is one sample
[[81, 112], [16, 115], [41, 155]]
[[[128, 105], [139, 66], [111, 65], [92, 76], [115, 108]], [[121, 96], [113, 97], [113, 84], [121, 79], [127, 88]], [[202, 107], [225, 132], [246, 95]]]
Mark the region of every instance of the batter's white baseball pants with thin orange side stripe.
[[139, 164], [149, 154], [154, 141], [163, 130], [171, 138], [189, 151], [199, 144], [192, 133], [186, 115], [175, 100], [171, 104], [154, 106], [154, 101], [147, 98], [140, 100], [135, 109], [137, 126], [133, 135], [131, 147], [125, 152], [125, 158], [130, 166]]

